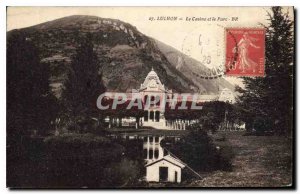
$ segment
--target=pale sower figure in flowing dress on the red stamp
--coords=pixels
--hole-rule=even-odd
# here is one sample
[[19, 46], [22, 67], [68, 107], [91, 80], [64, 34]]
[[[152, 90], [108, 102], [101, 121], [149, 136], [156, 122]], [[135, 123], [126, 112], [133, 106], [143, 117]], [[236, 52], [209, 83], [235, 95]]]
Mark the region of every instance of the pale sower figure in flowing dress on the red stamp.
[[238, 53], [238, 62], [239, 69], [242, 69], [242, 72], [245, 72], [245, 69], [251, 68], [255, 72], [258, 64], [249, 58], [249, 47], [259, 49], [259, 46], [256, 46], [253, 42], [256, 42], [258, 39], [250, 37], [248, 32], [243, 34], [243, 37], [239, 41], [237, 47], [233, 48], [234, 53]]

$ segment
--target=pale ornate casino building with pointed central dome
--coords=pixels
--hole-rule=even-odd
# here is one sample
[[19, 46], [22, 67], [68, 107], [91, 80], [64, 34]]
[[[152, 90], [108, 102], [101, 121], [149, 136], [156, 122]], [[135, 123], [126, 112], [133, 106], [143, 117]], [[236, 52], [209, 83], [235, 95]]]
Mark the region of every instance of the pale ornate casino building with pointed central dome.
[[[139, 126], [150, 127], [156, 129], [176, 129], [176, 130], [185, 130], [186, 126], [189, 125], [189, 121], [168, 121], [164, 116], [164, 109], [161, 108], [161, 102], [163, 98], [173, 98], [178, 96], [178, 99], [182, 99], [183, 96], [193, 96], [194, 94], [189, 93], [173, 93], [172, 90], [168, 90], [163, 83], [161, 83], [157, 73], [152, 70], [148, 73], [144, 82], [141, 84], [138, 90], [135, 90], [133, 93], [126, 93], [127, 100], [130, 100], [135, 95], [138, 98], [142, 98], [144, 114], [142, 118], [139, 118], [138, 121], [133, 117], [123, 117], [123, 118], [106, 118], [106, 122], [109, 127], [113, 126]], [[115, 92], [106, 92], [105, 96], [108, 99], [114, 99]], [[145, 106], [147, 101], [154, 102], [157, 99], [156, 104], [151, 104]], [[188, 99], [192, 100], [192, 99]], [[195, 99], [193, 99], [195, 100]], [[197, 103], [201, 102], [210, 102], [210, 101], [224, 101], [228, 103], [235, 102], [235, 96], [233, 92], [227, 88], [222, 89], [216, 95], [197, 95]], [[137, 123], [138, 122], [138, 123]]]

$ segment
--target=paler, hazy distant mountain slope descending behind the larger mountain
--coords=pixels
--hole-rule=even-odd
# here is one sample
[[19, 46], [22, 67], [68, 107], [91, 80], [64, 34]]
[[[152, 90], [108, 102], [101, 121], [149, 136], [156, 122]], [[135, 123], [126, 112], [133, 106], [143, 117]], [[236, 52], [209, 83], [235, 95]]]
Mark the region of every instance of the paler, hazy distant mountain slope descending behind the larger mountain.
[[208, 68], [202, 65], [199, 61], [183, 54], [177, 49], [164, 44], [159, 40], [153, 39], [159, 50], [165, 55], [168, 61], [184, 76], [188, 77], [199, 88], [200, 93], [214, 94], [218, 90], [228, 88], [234, 91], [235, 86], [222, 77], [214, 79], [204, 79], [203, 71]]

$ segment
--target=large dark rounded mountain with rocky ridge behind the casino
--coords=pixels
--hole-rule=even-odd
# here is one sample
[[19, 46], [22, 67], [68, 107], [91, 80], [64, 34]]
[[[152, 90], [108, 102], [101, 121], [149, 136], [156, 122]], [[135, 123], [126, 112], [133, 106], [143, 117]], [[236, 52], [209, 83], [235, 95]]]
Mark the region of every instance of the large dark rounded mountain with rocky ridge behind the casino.
[[[162, 83], [173, 91], [212, 93], [218, 89], [211, 80], [203, 82], [190, 76], [187, 71], [192, 69], [182, 71], [176, 68], [172, 59], [165, 55], [164, 48], [167, 45], [163, 47], [163, 43], [145, 36], [134, 26], [119, 20], [96, 16], [69, 16], [12, 30], [7, 35], [17, 32], [24, 33], [41, 51], [41, 61], [50, 66], [51, 86], [57, 96], [67, 79], [71, 58], [76, 52], [79, 40], [87, 33], [92, 35], [94, 50], [99, 57], [99, 68], [108, 91], [126, 92], [139, 89], [152, 67]], [[228, 83], [224, 86], [227, 85]]]

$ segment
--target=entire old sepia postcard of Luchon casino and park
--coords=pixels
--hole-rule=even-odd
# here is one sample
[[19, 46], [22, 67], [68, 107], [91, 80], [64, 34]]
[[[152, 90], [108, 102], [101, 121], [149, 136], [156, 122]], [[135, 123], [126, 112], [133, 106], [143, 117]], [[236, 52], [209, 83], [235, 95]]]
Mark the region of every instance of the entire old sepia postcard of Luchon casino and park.
[[294, 188], [293, 7], [8, 7], [8, 188]]

